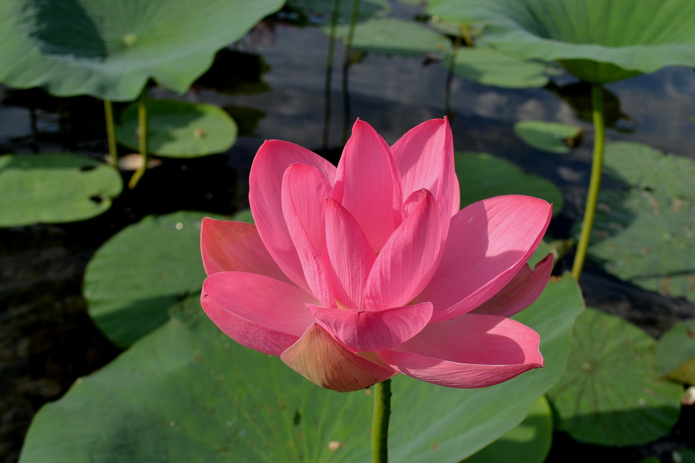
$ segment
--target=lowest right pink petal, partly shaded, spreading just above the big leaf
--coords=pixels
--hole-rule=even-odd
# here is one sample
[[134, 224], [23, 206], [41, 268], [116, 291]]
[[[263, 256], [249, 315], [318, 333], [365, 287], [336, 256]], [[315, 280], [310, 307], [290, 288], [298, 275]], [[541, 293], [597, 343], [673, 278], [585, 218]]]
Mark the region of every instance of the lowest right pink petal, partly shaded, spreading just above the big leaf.
[[534, 330], [511, 318], [465, 314], [427, 325], [377, 355], [400, 373], [446, 387], [488, 387], [543, 366]]

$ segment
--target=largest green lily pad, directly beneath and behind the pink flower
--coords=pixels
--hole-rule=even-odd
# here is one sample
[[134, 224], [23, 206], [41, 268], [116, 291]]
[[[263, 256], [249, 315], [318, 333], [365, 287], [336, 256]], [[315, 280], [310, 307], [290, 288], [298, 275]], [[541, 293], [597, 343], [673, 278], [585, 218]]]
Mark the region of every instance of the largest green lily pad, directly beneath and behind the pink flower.
[[[562, 374], [583, 309], [571, 277], [518, 316], [541, 335], [546, 368], [486, 389], [393, 378], [394, 462], [455, 463], [521, 422]], [[363, 462], [371, 390], [320, 389], [277, 357], [222, 334], [191, 295], [172, 320], [44, 406], [20, 461]]]

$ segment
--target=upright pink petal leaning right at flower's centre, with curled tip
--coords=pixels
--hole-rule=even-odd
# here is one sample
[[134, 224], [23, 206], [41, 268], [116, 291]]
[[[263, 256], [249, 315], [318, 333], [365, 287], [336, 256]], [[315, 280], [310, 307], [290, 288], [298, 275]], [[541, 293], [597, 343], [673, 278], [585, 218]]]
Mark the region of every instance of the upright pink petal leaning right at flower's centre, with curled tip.
[[[367, 277], [365, 309], [401, 307], [430, 282], [441, 258], [441, 216], [432, 193], [423, 189], [410, 215], [393, 232]], [[427, 301], [421, 301], [427, 302]]]

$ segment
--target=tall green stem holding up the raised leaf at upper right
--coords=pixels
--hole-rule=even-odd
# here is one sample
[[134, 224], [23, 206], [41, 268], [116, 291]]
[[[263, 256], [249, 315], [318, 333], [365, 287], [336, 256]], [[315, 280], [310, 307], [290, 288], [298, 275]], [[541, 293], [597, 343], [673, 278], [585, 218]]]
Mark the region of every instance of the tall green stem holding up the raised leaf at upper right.
[[591, 161], [591, 180], [589, 181], [587, 204], [584, 207], [582, 233], [579, 236], [577, 254], [572, 265], [572, 276], [577, 280], [582, 275], [582, 266], [584, 266], [584, 258], [587, 257], [591, 228], [594, 227], [598, 190], [601, 186], [601, 170], [603, 168], [603, 149], [605, 147], [606, 133], [605, 124], [603, 123], [603, 87], [597, 84], [591, 86], [591, 114], [594, 117], [594, 156]]

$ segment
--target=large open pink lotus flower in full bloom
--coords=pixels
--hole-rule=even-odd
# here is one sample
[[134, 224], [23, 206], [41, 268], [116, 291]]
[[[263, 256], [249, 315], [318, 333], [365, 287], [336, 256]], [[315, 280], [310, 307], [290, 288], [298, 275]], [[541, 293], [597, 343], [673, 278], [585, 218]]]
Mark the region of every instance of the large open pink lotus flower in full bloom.
[[357, 120], [338, 168], [266, 141], [251, 168], [256, 225], [206, 218], [206, 314], [316, 384], [356, 391], [396, 373], [486, 387], [543, 366], [507, 318], [538, 298], [552, 258], [526, 264], [552, 206], [500, 196], [459, 211], [448, 120], [392, 147]]

